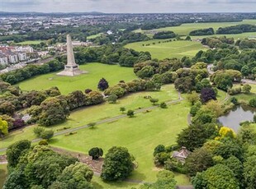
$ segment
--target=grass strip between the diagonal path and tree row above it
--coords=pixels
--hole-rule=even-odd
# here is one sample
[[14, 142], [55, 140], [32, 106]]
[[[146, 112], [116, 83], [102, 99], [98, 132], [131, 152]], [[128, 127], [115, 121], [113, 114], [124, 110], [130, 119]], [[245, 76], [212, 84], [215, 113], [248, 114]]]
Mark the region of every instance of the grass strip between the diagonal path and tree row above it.
[[[125, 107], [128, 110], [152, 106], [149, 99], [143, 98], [145, 95], [150, 95], [152, 98], [158, 98], [160, 102], [178, 99], [178, 93], [176, 90], [174, 90], [173, 85], [164, 85], [160, 91], [139, 92], [132, 95], [127, 95], [122, 99], [118, 99], [116, 104], [104, 103], [88, 108], [80, 108], [70, 114], [67, 122], [50, 127], [50, 129], [57, 131], [59, 128], [63, 127], [80, 127], [87, 125], [89, 122], [98, 122], [106, 118], [115, 117], [116, 115], [121, 114], [119, 111], [120, 107]], [[34, 127], [36, 127], [36, 125], [25, 127], [17, 131], [12, 131], [4, 139], [0, 139], [0, 148], [5, 148], [16, 141], [35, 139], [36, 136], [33, 133]]]

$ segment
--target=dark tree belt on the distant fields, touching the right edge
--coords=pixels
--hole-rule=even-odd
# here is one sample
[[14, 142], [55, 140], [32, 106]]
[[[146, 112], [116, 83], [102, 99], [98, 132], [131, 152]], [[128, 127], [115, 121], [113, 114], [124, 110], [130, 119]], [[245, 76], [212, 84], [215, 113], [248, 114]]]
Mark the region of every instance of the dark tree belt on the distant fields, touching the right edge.
[[228, 34], [242, 34], [244, 32], [255, 32], [256, 25], [232, 25], [225, 28], [219, 28], [216, 34], [228, 35]]

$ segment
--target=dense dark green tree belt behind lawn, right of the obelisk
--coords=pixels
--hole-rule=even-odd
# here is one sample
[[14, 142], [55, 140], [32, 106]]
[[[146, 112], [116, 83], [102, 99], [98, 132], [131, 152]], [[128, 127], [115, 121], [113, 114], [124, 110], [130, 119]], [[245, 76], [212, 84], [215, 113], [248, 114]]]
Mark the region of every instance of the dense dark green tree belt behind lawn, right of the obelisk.
[[138, 52], [119, 45], [104, 45], [97, 48], [76, 48], [75, 59], [78, 64], [85, 62], [102, 62], [119, 64], [121, 67], [133, 67], [136, 62], [151, 59], [149, 52]]

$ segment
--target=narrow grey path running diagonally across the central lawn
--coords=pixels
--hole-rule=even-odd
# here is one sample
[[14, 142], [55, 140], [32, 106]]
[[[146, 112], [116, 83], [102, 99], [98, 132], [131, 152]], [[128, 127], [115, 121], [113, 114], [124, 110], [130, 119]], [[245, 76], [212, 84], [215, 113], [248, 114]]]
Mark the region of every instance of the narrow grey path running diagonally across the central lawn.
[[[175, 103], [178, 103], [182, 100], [183, 100], [183, 97], [181, 96], [181, 93], [178, 92], [178, 99], [167, 101], [166, 104], [175, 104]], [[147, 110], [151, 110], [151, 109], [154, 109], [154, 108], [159, 108], [159, 105], [154, 105], [154, 106], [151, 106], [151, 107], [148, 107], [148, 108], [140, 108], [140, 109], [136, 110], [135, 113], [143, 113]], [[106, 122], [114, 122], [116, 120], [119, 120], [121, 118], [126, 118], [126, 117], [127, 117], [126, 114], [121, 114], [119, 116], [115, 116], [115, 117], [112, 117], [112, 118], [106, 118], [106, 119], [103, 119], [99, 122], [96, 122], [96, 125], [106, 123]], [[64, 134], [67, 134], [69, 132], [78, 131], [78, 130], [81, 130], [81, 129], [84, 129], [84, 128], [87, 128], [87, 127], [90, 127], [90, 126], [84, 125], [84, 126], [81, 126], [81, 127], [75, 127], [75, 128], [67, 129], [67, 130], [64, 130], [64, 131], [58, 131], [58, 132], [55, 132], [54, 136], [64, 135]], [[36, 139], [32, 140], [32, 142], [37, 142], [37, 141], [40, 141], [40, 140], [41, 140], [40, 138], [36, 138]], [[0, 149], [0, 152], [6, 151], [6, 150], [7, 150], [7, 148], [2, 148], [2, 149]]]

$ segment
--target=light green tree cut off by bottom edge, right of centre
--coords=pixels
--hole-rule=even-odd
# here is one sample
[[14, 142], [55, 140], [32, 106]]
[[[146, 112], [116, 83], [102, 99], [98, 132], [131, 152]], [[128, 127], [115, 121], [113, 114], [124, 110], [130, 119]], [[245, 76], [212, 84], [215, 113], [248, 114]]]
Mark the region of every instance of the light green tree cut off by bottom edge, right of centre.
[[174, 179], [173, 172], [168, 170], [159, 171], [157, 174], [157, 181], [154, 183], [145, 183], [140, 189], [174, 189], [177, 182]]

